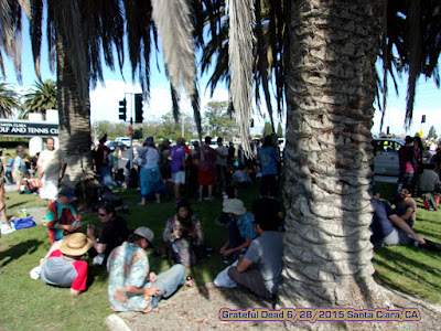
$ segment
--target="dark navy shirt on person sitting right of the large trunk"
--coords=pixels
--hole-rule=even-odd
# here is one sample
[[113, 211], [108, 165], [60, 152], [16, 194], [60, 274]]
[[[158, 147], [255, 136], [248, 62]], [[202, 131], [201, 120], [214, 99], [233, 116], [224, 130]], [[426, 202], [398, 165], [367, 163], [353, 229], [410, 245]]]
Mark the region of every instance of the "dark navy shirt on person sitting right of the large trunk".
[[373, 205], [374, 217], [370, 223], [370, 229], [373, 232], [370, 242], [377, 243], [386, 238], [394, 231], [394, 224], [389, 220], [389, 216], [396, 214], [396, 212], [387, 202], [379, 201], [378, 199], [373, 199]]

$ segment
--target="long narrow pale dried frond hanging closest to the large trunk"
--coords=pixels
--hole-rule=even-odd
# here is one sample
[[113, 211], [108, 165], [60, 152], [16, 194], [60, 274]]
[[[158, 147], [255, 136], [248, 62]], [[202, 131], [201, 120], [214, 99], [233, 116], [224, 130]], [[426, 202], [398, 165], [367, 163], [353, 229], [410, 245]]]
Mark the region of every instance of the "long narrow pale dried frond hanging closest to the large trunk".
[[230, 92], [245, 152], [250, 156], [250, 111], [252, 102], [252, 25], [251, 0], [227, 0], [229, 17]]

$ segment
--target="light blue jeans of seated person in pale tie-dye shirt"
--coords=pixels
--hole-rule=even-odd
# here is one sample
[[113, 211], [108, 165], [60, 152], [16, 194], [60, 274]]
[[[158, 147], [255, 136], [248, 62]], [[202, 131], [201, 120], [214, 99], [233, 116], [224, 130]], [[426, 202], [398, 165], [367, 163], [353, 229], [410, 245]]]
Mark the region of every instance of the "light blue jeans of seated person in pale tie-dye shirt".
[[180, 264], [176, 264], [169, 270], [159, 274], [157, 281], [151, 282], [151, 285], [159, 287], [161, 289], [161, 295], [153, 298], [152, 307], [155, 308], [162, 298], [169, 298], [173, 295], [178, 287], [184, 284], [184, 276], [185, 267]]

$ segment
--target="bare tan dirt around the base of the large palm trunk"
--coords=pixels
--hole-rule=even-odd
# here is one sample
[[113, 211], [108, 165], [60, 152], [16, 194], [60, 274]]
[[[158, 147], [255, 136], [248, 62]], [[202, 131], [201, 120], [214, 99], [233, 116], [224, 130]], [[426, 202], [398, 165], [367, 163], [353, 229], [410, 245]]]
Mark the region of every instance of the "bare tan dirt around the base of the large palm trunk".
[[[415, 322], [377, 322], [375, 325], [366, 323], [363, 330], [441, 330], [441, 307], [430, 302], [412, 298], [396, 291], [387, 291], [394, 309], [418, 308], [421, 321]], [[293, 324], [280, 321], [222, 321], [219, 310], [222, 308], [247, 309], [247, 308], [273, 309], [273, 303], [260, 299], [251, 293], [237, 289], [216, 288], [214, 285], [206, 287], [180, 290], [169, 300], [162, 300], [152, 312], [142, 314], [133, 312], [118, 313], [117, 316], [126, 323], [126, 328], [117, 327], [117, 323], [108, 320], [110, 330], [286, 330], [295, 329]], [[115, 321], [115, 320], [114, 320]], [[319, 321], [315, 325], [303, 327], [313, 329], [340, 329], [335, 322]], [[322, 323], [322, 325], [319, 325]], [[361, 323], [361, 322], [358, 322]], [[362, 322], [363, 324], [363, 322]], [[299, 325], [300, 327], [300, 325]], [[361, 330], [362, 330], [361, 329]]]

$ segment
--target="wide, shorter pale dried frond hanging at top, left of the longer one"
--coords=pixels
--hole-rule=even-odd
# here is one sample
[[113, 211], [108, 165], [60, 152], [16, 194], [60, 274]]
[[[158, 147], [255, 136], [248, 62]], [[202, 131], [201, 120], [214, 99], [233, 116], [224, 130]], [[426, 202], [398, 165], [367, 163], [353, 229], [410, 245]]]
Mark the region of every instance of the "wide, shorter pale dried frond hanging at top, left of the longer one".
[[196, 66], [193, 45], [194, 26], [189, 1], [154, 1], [153, 20], [161, 36], [164, 63], [173, 89], [180, 93], [183, 85], [186, 95], [193, 96]]

